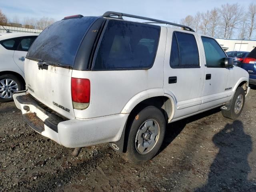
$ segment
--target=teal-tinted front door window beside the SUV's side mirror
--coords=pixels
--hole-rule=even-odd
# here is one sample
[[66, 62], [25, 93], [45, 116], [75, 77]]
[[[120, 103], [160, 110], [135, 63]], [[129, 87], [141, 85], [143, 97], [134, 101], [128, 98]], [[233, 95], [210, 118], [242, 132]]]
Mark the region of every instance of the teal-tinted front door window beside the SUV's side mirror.
[[202, 37], [207, 67], [224, 67], [225, 52], [212, 38]]

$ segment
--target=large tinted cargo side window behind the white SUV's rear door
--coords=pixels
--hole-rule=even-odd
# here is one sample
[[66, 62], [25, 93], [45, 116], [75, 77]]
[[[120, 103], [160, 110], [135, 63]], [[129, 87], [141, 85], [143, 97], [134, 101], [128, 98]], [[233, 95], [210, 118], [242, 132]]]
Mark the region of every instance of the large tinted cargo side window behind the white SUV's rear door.
[[93, 70], [146, 69], [153, 65], [160, 26], [109, 20]]

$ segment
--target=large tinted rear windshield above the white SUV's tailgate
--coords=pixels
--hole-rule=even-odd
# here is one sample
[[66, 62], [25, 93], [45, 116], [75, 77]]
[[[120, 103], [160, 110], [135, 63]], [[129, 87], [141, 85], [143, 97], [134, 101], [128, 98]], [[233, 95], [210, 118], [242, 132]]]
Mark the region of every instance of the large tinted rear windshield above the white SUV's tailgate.
[[80, 42], [96, 19], [81, 17], [55, 22], [36, 38], [27, 58], [73, 67]]

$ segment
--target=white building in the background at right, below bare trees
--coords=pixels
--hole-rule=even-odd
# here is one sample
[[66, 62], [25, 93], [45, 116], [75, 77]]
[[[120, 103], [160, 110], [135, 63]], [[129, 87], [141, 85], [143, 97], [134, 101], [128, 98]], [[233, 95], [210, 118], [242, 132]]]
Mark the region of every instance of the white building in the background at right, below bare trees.
[[220, 46], [228, 51], [248, 51], [250, 52], [256, 47], [256, 40], [242, 40], [242, 39], [218, 39]]

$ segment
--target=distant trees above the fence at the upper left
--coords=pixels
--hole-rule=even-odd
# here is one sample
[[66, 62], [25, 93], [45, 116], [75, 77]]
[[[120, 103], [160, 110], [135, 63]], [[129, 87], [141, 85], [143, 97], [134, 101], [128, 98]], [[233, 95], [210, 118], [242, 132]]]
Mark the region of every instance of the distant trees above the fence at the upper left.
[[[40, 19], [25, 17], [20, 20], [18, 16], [12, 18], [12, 23], [23, 24], [26, 28], [33, 28], [44, 30], [47, 26], [54, 23], [56, 20], [54, 18], [42, 17]], [[0, 25], [11, 26], [10, 19], [0, 10]]]

